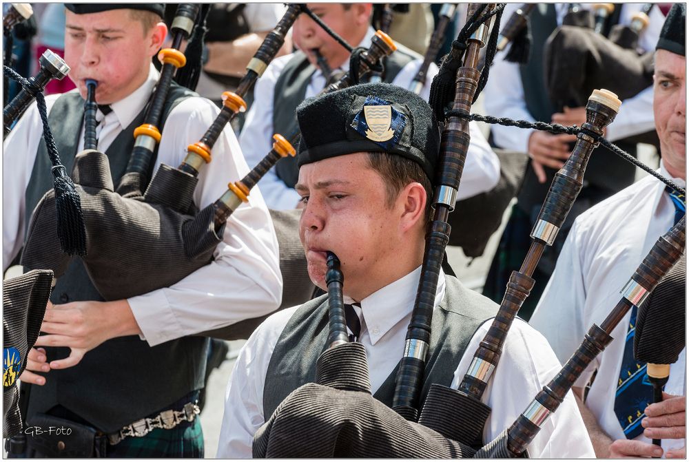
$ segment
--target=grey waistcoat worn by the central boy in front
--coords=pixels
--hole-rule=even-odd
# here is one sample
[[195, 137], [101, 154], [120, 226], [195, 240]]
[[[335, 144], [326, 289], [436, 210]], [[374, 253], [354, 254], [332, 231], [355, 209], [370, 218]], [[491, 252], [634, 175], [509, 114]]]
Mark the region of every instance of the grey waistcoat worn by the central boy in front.
[[[421, 402], [431, 384], [450, 386], [466, 345], [477, 328], [497, 313], [497, 304], [469, 290], [452, 276], [445, 277], [445, 295], [433, 311], [431, 346], [426, 363]], [[263, 417], [267, 421], [289, 393], [316, 379], [316, 361], [326, 349], [328, 337], [327, 295], [298, 308], [282, 330], [270, 358], [263, 388]], [[389, 354], [402, 358], [404, 345]], [[469, 352], [473, 354], [472, 352]], [[399, 364], [398, 364], [399, 366]], [[392, 406], [395, 376], [391, 371], [373, 397]]]

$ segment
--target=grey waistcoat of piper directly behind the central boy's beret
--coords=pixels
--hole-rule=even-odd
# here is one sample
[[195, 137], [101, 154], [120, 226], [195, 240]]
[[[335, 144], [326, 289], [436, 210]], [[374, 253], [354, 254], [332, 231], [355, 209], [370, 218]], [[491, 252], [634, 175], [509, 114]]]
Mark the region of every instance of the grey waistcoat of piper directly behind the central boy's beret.
[[[398, 44], [397, 51], [387, 56], [383, 81], [392, 83], [402, 67], [420, 57], [418, 53]], [[294, 53], [294, 58], [285, 65], [285, 69], [282, 70], [278, 81], [275, 83], [273, 94], [274, 133], [279, 133], [285, 137], [296, 133], [298, 129], [296, 108], [306, 98], [306, 90], [313, 72], [316, 72], [316, 67], [313, 67], [306, 54], [300, 51]], [[273, 134], [271, 133], [269, 136], [273, 136]], [[280, 162], [275, 166], [275, 171], [278, 178], [285, 182], [285, 185], [293, 188], [297, 184], [299, 167], [296, 157], [280, 159]]]

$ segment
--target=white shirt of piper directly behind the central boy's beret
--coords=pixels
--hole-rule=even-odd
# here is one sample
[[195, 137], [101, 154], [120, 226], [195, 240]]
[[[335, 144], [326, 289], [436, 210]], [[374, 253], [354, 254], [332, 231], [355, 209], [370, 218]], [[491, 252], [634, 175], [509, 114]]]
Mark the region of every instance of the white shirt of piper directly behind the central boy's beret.
[[[368, 46], [371, 37], [375, 34], [373, 28], [367, 30], [364, 39], [356, 46]], [[273, 98], [275, 94], [275, 84], [278, 77], [285, 68], [285, 65], [294, 58], [294, 54], [280, 56], [274, 59], [265, 70], [263, 76], [256, 82], [254, 95], [256, 100], [251, 105], [247, 119], [239, 136], [239, 143], [249, 165], [256, 165], [263, 157], [268, 154], [273, 145]], [[393, 85], [409, 88], [411, 81], [419, 70], [422, 59], [414, 59], [402, 67], [400, 73], [395, 76]], [[340, 67], [341, 70], [349, 70], [349, 61]], [[431, 81], [435, 74], [438, 74], [438, 66], [431, 64], [426, 76], [426, 83], [421, 92], [422, 98], [428, 101], [431, 92]], [[306, 98], [316, 96], [325, 87], [325, 76], [316, 70], [311, 76], [311, 81], [306, 91]], [[296, 114], [295, 114], [296, 117]], [[491, 149], [486, 138], [481, 133], [475, 122], [469, 124], [471, 130], [471, 145], [466, 156], [464, 171], [462, 172], [462, 182], [457, 192], [457, 200], [462, 200], [484, 191], [490, 191], [500, 180], [500, 160]], [[288, 134], [282, 134], [287, 136]], [[295, 146], [296, 148], [296, 146]], [[294, 188], [285, 185], [285, 182], [278, 178], [275, 169], [271, 169], [258, 182], [265, 202], [268, 207], [276, 210], [294, 209], [300, 200], [299, 194]]]

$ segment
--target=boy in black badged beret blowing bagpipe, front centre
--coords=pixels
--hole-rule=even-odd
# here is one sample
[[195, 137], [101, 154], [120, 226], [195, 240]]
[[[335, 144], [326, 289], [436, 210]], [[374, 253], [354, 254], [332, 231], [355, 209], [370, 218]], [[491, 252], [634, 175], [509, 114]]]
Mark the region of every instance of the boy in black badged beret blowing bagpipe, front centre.
[[[311, 98], [297, 115], [303, 138], [296, 190], [305, 204], [299, 231], [309, 275], [325, 289], [326, 252], [338, 256], [350, 338], [366, 349], [373, 396], [391, 406], [431, 216], [438, 123], [422, 98], [388, 84]], [[314, 381], [327, 347], [327, 308], [325, 296], [317, 298], [272, 315], [251, 335], [228, 386], [218, 456], [250, 457], [258, 428], [291, 391]], [[496, 311], [441, 271], [433, 315], [439, 327], [428, 356], [444, 359], [426, 366], [426, 380], [456, 388]], [[444, 341], [434, 346], [433, 338]], [[453, 353], [434, 355], [434, 348]], [[515, 320], [484, 395], [493, 408], [485, 440], [510, 425], [559, 367], [545, 339]], [[530, 456], [593, 456], [571, 395], [561, 410]]]

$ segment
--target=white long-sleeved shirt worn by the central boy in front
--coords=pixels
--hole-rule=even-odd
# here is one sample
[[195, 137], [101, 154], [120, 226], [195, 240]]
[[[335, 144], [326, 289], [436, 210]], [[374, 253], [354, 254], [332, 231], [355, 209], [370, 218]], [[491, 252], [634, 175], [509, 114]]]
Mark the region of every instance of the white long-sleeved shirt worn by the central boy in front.
[[[421, 268], [361, 300], [359, 342], [366, 348], [375, 393], [404, 353], [404, 338], [411, 319]], [[435, 306], [445, 293], [441, 271]], [[351, 300], [345, 299], [345, 302]], [[256, 430], [270, 416], [263, 415], [263, 386], [276, 342], [298, 307], [272, 315], [258, 327], [242, 348], [227, 385], [225, 414], [220, 428], [218, 457], [251, 457]], [[359, 313], [358, 313], [359, 314]], [[457, 388], [469, 368], [473, 354], [488, 331], [492, 319], [482, 324], [471, 338], [455, 370]], [[511, 426], [537, 392], [559, 371], [560, 364], [548, 343], [533, 328], [516, 319], [509, 331], [502, 359], [486, 388], [483, 401], [493, 408], [484, 428], [484, 441], [491, 441]], [[532, 457], [593, 457], [584, 422], [571, 393], [544, 423], [528, 448]]]

